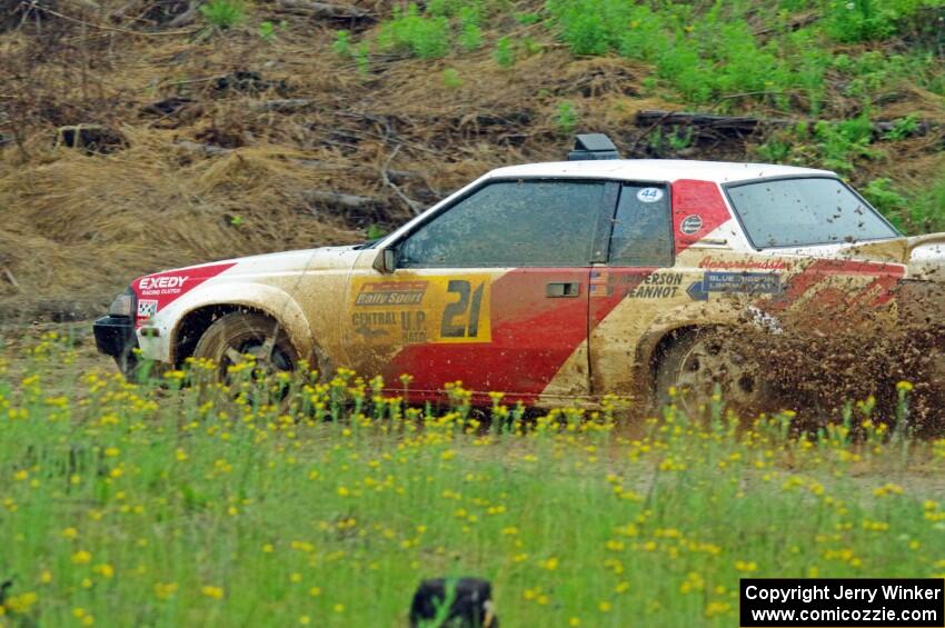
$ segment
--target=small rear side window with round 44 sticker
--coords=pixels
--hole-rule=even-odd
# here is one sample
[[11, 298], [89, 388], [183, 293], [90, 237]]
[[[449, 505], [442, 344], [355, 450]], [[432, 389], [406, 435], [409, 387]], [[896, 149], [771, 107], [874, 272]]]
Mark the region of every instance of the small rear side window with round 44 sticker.
[[610, 236], [610, 266], [673, 266], [669, 207], [666, 186], [621, 186]]

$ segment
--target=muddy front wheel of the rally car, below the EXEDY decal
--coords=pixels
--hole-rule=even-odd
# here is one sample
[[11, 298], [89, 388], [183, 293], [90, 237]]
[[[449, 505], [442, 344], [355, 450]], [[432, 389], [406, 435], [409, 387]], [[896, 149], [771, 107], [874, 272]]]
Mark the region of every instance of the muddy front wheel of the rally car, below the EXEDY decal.
[[288, 335], [269, 317], [231, 312], [220, 317], [203, 332], [193, 350], [195, 358], [206, 358], [219, 366], [217, 376], [226, 380], [227, 368], [240, 362], [245, 355], [256, 357], [262, 372], [292, 372], [299, 363]]

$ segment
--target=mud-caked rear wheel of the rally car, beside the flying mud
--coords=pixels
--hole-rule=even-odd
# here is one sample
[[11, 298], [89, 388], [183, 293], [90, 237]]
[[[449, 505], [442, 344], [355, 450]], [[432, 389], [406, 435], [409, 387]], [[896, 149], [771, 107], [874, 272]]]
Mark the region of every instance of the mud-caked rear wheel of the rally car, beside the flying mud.
[[762, 365], [739, 350], [737, 335], [724, 328], [697, 329], [673, 340], [656, 367], [654, 399], [662, 408], [675, 388], [676, 406], [695, 418], [716, 386], [725, 407], [742, 419], [774, 409], [773, 387]]

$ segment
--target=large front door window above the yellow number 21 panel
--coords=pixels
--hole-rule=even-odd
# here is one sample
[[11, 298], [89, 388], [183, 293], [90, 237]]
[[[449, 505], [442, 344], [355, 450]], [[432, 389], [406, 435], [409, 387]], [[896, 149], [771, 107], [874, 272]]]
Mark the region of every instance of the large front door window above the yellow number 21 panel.
[[604, 183], [498, 181], [414, 231], [401, 268], [588, 266]]

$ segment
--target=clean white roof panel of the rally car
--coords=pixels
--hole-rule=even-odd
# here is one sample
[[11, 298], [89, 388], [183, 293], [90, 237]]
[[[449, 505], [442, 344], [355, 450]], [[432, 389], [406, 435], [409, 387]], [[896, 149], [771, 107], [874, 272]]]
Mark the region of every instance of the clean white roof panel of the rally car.
[[629, 181], [677, 181], [698, 179], [716, 183], [747, 181], [770, 177], [836, 177], [829, 170], [795, 168], [774, 163], [738, 163], [688, 159], [607, 159], [586, 161], [549, 161], [498, 168], [487, 177], [599, 177]]

